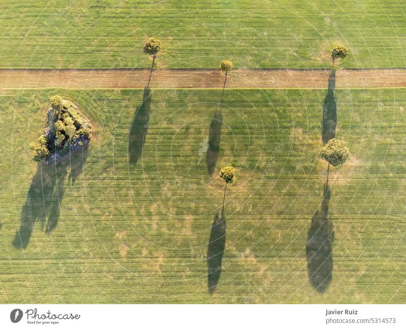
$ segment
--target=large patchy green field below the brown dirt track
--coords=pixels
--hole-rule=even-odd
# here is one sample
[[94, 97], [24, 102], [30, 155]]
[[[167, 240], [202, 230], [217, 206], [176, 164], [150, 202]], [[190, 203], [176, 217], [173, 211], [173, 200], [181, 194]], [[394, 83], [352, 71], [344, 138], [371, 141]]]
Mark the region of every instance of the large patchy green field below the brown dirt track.
[[[75, 101], [95, 134], [71, 163], [38, 169], [28, 142], [56, 93]], [[226, 90], [221, 113], [221, 90], [147, 95], [3, 91], [0, 303], [406, 301], [406, 89], [339, 89], [336, 103], [326, 89]], [[326, 106], [337, 108], [337, 136], [351, 157], [330, 170], [322, 202]], [[211, 125], [220, 148], [207, 158]], [[211, 296], [206, 255], [223, 198], [217, 172], [229, 164], [239, 176], [227, 190], [226, 247]], [[308, 273], [306, 244], [317, 232], [332, 251], [324, 291], [314, 264]]]

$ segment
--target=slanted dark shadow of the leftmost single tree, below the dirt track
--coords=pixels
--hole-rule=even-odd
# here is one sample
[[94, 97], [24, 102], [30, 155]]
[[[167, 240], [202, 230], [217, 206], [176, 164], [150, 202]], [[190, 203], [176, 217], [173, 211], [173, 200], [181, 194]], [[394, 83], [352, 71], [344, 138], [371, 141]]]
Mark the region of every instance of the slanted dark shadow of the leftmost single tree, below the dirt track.
[[129, 162], [136, 164], [143, 152], [145, 136], [148, 131], [151, 107], [151, 90], [144, 88], [143, 102], [137, 108], [137, 112], [131, 123], [128, 136]]

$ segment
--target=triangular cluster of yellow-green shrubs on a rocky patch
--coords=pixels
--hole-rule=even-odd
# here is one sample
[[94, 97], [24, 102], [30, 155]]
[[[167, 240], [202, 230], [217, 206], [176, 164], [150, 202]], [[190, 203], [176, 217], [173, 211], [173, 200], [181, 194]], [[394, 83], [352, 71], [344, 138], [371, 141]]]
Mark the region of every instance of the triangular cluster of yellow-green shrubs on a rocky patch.
[[60, 96], [50, 98], [47, 127], [38, 141], [29, 145], [35, 151], [33, 160], [44, 162], [50, 153], [70, 151], [72, 145], [83, 145], [90, 139], [91, 125], [77, 107]]

